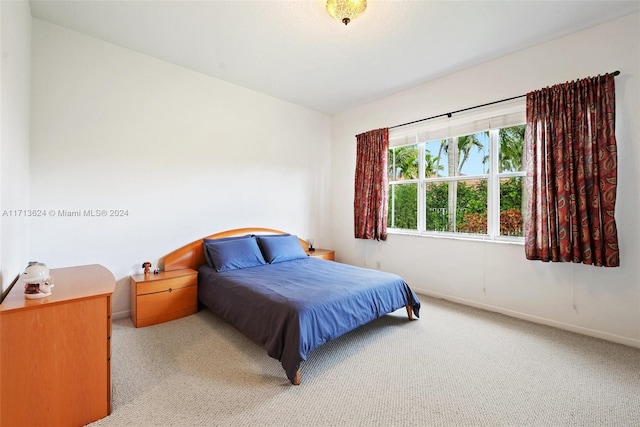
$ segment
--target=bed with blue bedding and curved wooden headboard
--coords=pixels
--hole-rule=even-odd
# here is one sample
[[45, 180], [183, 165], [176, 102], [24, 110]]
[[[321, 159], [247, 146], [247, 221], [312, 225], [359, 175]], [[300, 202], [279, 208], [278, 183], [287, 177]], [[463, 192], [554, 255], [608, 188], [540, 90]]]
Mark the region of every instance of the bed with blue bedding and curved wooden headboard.
[[268, 228], [198, 239], [164, 257], [165, 271], [198, 270], [198, 301], [282, 364], [300, 384], [309, 353], [420, 300], [398, 275], [307, 256], [307, 243]]

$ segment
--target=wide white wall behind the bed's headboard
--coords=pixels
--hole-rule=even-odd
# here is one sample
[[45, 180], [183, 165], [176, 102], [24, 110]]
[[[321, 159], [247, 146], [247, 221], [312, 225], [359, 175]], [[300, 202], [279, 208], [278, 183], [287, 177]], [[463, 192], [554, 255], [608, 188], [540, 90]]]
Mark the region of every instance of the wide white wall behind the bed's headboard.
[[[31, 205], [56, 217], [32, 221], [31, 255], [109, 268], [114, 315], [143, 261], [197, 238], [323, 234], [328, 116], [37, 19], [32, 48]], [[128, 216], [58, 215], [90, 209]]]

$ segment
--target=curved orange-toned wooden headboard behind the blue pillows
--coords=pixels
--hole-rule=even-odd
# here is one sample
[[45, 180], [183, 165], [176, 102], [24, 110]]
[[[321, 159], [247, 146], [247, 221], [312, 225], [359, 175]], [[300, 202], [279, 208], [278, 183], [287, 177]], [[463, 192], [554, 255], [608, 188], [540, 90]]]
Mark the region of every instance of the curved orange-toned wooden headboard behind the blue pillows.
[[[203, 237], [187, 245], [184, 245], [180, 249], [165, 255], [164, 270], [180, 270], [181, 268], [192, 268], [197, 270], [203, 264], [206, 264], [207, 260], [204, 257], [203, 240], [204, 239], [220, 239], [223, 237], [244, 236], [247, 234], [286, 234], [284, 231], [273, 230], [271, 228], [249, 227], [249, 228], [236, 228], [234, 230], [222, 231], [220, 233], [212, 234], [210, 236]], [[298, 238], [302, 248], [307, 251], [309, 245], [305, 240]]]

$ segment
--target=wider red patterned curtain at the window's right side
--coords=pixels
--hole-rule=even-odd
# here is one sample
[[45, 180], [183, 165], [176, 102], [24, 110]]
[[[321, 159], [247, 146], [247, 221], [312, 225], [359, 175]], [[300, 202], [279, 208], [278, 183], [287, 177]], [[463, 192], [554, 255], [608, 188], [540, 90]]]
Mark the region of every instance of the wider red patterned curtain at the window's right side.
[[613, 74], [527, 94], [527, 259], [620, 265]]

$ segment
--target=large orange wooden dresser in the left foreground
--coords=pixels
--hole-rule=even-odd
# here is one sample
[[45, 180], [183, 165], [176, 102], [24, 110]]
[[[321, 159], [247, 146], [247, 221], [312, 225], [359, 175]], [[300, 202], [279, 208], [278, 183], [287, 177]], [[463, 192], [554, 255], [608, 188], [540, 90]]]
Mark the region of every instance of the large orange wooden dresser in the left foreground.
[[18, 282], [0, 304], [2, 426], [82, 426], [111, 412], [113, 274], [50, 274], [50, 296], [27, 300]]

